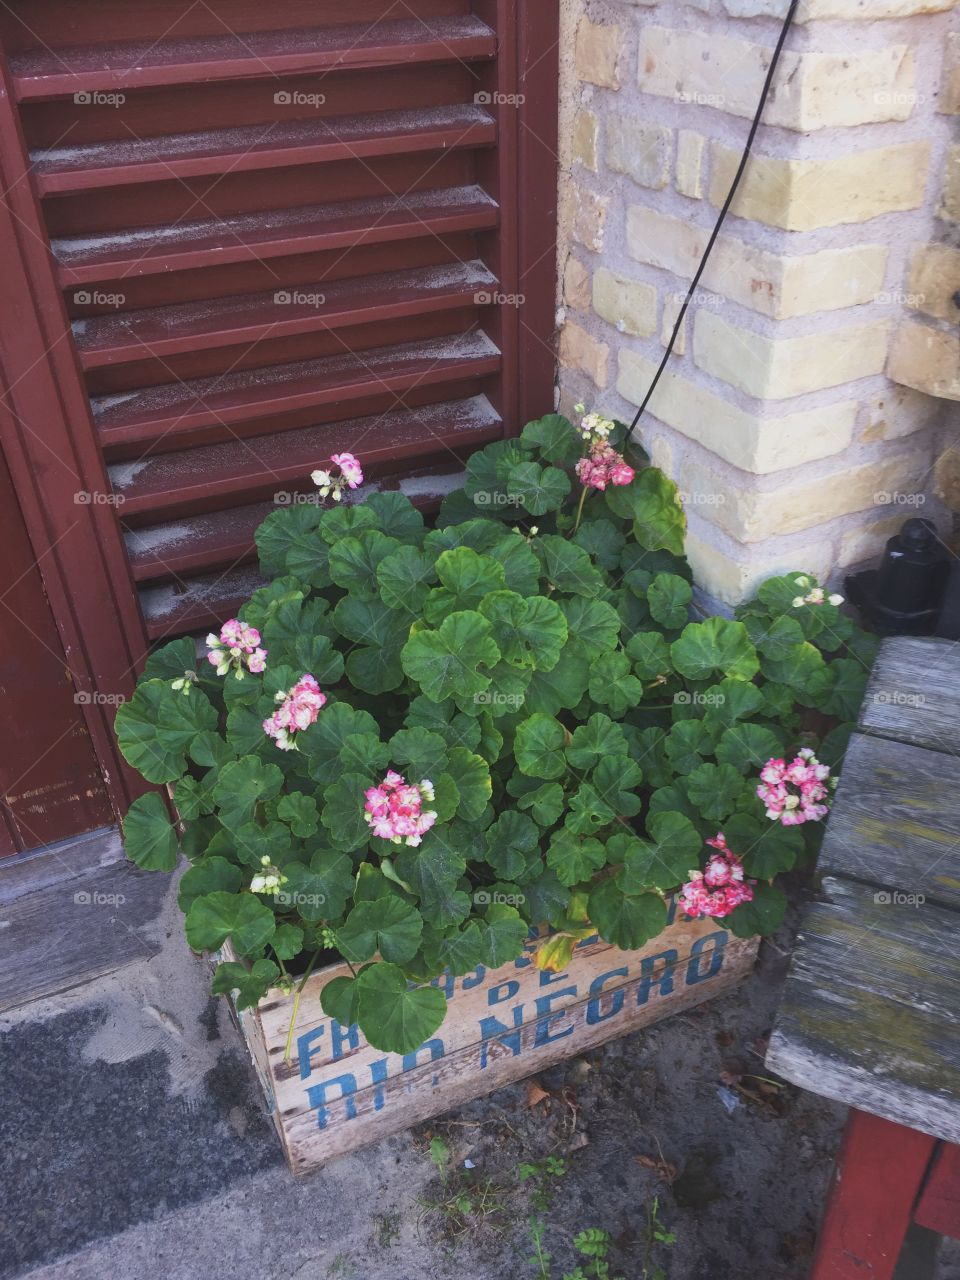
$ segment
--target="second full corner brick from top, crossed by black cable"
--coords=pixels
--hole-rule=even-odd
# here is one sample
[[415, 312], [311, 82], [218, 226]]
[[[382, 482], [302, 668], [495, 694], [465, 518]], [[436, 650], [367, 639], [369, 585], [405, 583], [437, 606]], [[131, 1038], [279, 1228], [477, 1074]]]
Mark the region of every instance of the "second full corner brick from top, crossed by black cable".
[[[731, 211], [769, 227], [803, 232], [919, 209], [929, 151], [928, 142], [901, 142], [826, 160], [754, 154]], [[726, 200], [739, 163], [739, 150], [714, 145], [710, 173], [714, 205]]]

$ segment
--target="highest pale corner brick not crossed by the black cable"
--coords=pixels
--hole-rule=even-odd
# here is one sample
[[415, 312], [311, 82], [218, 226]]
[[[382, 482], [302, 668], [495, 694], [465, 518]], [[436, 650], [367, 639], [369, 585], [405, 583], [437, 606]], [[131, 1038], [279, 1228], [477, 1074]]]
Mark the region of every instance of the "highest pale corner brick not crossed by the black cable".
[[874, 321], [799, 338], [768, 338], [712, 311], [694, 321], [694, 360], [758, 399], [787, 399], [883, 371], [888, 325]]

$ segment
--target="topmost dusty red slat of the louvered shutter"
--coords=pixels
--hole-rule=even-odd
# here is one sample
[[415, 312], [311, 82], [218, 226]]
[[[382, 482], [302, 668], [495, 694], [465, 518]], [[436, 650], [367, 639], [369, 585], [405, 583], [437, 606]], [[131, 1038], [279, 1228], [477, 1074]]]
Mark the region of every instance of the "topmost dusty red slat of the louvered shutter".
[[19, 101], [76, 92], [111, 92], [250, 77], [474, 61], [497, 52], [494, 32], [479, 18], [344, 24], [251, 32], [195, 40], [123, 42], [29, 50], [10, 59]]

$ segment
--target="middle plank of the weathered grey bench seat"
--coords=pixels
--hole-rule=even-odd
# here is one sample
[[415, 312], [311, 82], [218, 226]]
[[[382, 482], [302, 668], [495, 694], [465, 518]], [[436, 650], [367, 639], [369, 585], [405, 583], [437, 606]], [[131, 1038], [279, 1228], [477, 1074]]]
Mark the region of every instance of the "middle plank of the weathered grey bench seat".
[[855, 733], [819, 868], [960, 909], [960, 758]]

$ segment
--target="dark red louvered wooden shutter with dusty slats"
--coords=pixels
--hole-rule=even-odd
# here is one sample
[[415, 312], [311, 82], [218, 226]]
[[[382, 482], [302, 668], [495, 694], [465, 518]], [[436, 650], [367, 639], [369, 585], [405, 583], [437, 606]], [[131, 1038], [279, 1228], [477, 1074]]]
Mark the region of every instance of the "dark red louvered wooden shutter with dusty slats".
[[552, 0], [8, 0], [0, 40], [150, 637], [250, 594], [332, 453], [429, 503], [550, 410]]

